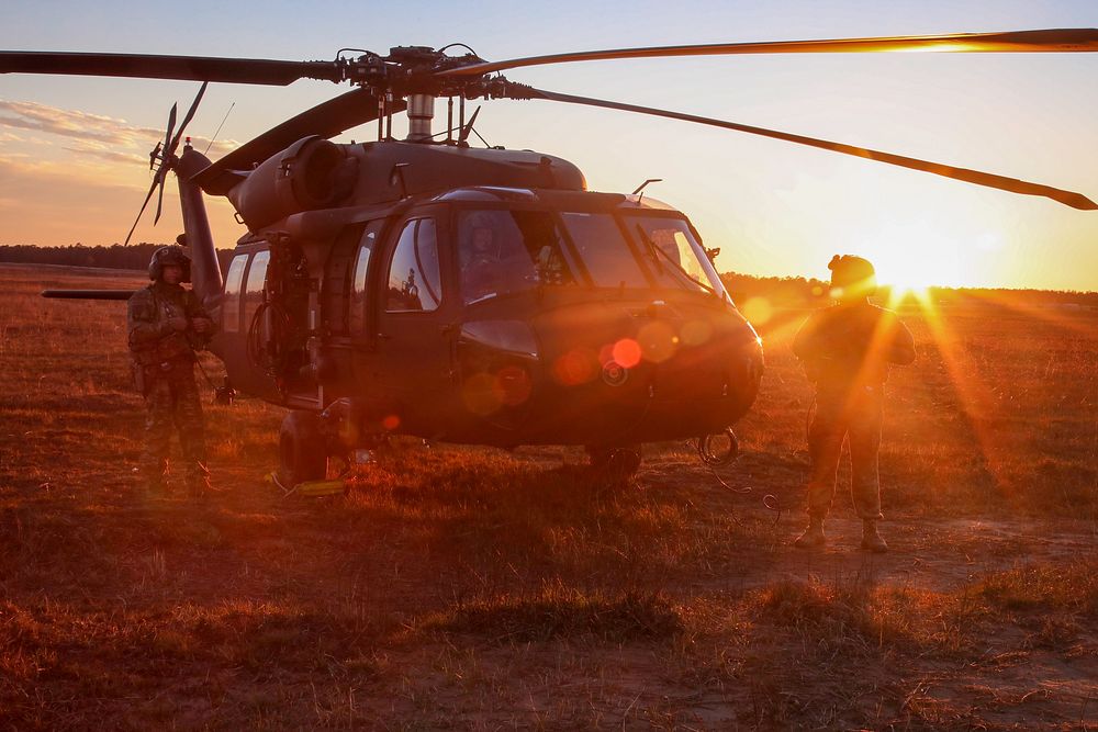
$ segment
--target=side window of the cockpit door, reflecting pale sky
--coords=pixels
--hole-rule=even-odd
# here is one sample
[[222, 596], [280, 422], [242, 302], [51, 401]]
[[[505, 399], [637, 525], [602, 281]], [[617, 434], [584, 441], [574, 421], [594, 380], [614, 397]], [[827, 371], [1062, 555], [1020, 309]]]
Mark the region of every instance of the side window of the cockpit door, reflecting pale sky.
[[390, 313], [438, 309], [441, 277], [433, 218], [415, 218], [404, 225], [389, 264], [386, 290], [385, 309]]

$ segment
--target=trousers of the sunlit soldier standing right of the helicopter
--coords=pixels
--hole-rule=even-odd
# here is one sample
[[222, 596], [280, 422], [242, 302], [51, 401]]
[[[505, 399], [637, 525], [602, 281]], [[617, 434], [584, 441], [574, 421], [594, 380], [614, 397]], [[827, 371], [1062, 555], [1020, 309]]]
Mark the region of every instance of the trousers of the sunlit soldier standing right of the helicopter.
[[883, 404], [881, 386], [817, 392], [816, 412], [808, 426], [809, 516], [824, 518], [831, 510], [836, 472], [845, 439], [850, 446], [850, 494], [854, 510], [863, 519], [883, 518], [877, 474]]

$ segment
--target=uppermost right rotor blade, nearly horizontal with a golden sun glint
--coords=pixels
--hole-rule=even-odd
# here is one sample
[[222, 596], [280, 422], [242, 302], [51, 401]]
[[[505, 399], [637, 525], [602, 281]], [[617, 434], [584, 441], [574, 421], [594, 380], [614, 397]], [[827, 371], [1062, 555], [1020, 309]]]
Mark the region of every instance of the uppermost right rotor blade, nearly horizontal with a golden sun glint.
[[949, 35], [903, 35], [883, 38], [832, 38], [826, 41], [770, 41], [765, 43], [713, 43], [687, 46], [649, 46], [581, 50], [548, 56], [528, 56], [504, 61], [485, 61], [439, 71], [435, 76], [480, 76], [524, 66], [597, 61], [618, 58], [664, 58], [669, 56], [728, 56], [740, 54], [850, 54], [896, 50], [934, 53], [1064, 53], [1098, 50], [1098, 29], [1053, 29], [1008, 33], [953, 33]]

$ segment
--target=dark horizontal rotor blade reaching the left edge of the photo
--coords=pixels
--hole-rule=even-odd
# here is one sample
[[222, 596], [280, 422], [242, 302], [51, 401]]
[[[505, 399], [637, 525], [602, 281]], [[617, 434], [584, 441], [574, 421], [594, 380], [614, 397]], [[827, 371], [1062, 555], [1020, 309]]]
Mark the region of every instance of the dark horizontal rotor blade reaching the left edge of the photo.
[[334, 61], [29, 50], [0, 52], [0, 74], [119, 76], [276, 87], [284, 87], [298, 79], [339, 81], [343, 78], [339, 67]]

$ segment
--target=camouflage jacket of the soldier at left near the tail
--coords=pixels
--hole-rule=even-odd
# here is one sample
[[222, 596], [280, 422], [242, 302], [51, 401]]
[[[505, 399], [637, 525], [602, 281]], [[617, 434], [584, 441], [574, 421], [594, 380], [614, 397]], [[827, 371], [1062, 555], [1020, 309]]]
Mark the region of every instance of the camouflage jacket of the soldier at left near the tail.
[[198, 334], [193, 328], [175, 330], [172, 317], [209, 318], [198, 296], [178, 284], [154, 282], [130, 299], [126, 329], [130, 353], [141, 365], [171, 361], [194, 361], [194, 351], [205, 348], [211, 334]]

